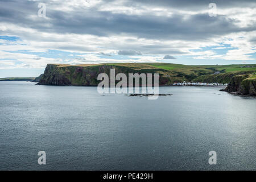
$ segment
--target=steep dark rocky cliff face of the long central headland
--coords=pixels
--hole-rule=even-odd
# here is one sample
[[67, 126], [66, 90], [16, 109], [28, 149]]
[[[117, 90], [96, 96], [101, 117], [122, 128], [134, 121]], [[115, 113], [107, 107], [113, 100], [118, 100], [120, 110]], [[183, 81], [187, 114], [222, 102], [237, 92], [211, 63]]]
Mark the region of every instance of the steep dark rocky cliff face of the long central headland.
[[[115, 65], [92, 65], [83, 67], [79, 65], [61, 65], [47, 64], [39, 85], [84, 85], [97, 86], [99, 82], [97, 76], [100, 73], [106, 73], [110, 78], [110, 69], [115, 69], [115, 75], [125, 73], [128, 80], [129, 73], [159, 73], [159, 85], [170, 85], [172, 81], [168, 77], [164, 77], [160, 72], [163, 69], [132, 69], [128, 67]], [[118, 81], [117, 81], [118, 82]]]

